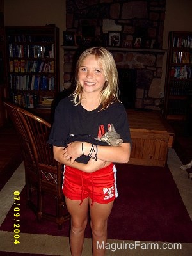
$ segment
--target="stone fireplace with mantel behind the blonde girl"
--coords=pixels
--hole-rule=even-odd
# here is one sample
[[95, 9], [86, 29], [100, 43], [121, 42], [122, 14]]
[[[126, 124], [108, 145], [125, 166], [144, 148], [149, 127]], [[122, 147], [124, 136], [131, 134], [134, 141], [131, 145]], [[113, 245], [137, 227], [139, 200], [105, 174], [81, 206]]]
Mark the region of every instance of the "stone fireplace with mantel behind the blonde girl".
[[[102, 45], [113, 54], [126, 108], [159, 109], [164, 93], [161, 76], [165, 6], [166, 0], [66, 1], [66, 30], [82, 35], [84, 47]], [[109, 31], [120, 32], [119, 47], [109, 47]], [[131, 48], [124, 47], [128, 38], [132, 38]], [[139, 48], [134, 47], [136, 38], [142, 40]], [[72, 84], [77, 49], [64, 45], [64, 88]]]

